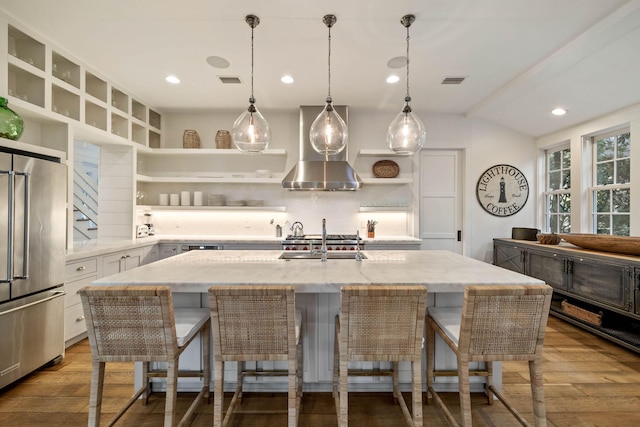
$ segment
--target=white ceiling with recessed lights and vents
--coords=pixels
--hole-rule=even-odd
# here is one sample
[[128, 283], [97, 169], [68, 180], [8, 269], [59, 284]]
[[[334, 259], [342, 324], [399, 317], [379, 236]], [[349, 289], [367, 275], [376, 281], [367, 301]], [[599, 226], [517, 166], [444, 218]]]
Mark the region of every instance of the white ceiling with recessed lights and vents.
[[[419, 115], [465, 114], [540, 136], [640, 103], [640, 0], [0, 0], [0, 10], [165, 112], [246, 108], [247, 14], [261, 20], [254, 84], [263, 113], [324, 103], [327, 13], [338, 19], [331, 94], [352, 110], [391, 119], [402, 108], [406, 71], [387, 61], [406, 52], [407, 13], [416, 15], [410, 86]], [[230, 66], [211, 67], [212, 55]], [[401, 80], [390, 85], [394, 71]], [[166, 83], [167, 74], [182, 83]], [[295, 83], [280, 83], [283, 74]], [[442, 85], [449, 76], [466, 80]], [[553, 117], [556, 106], [569, 114]]]

